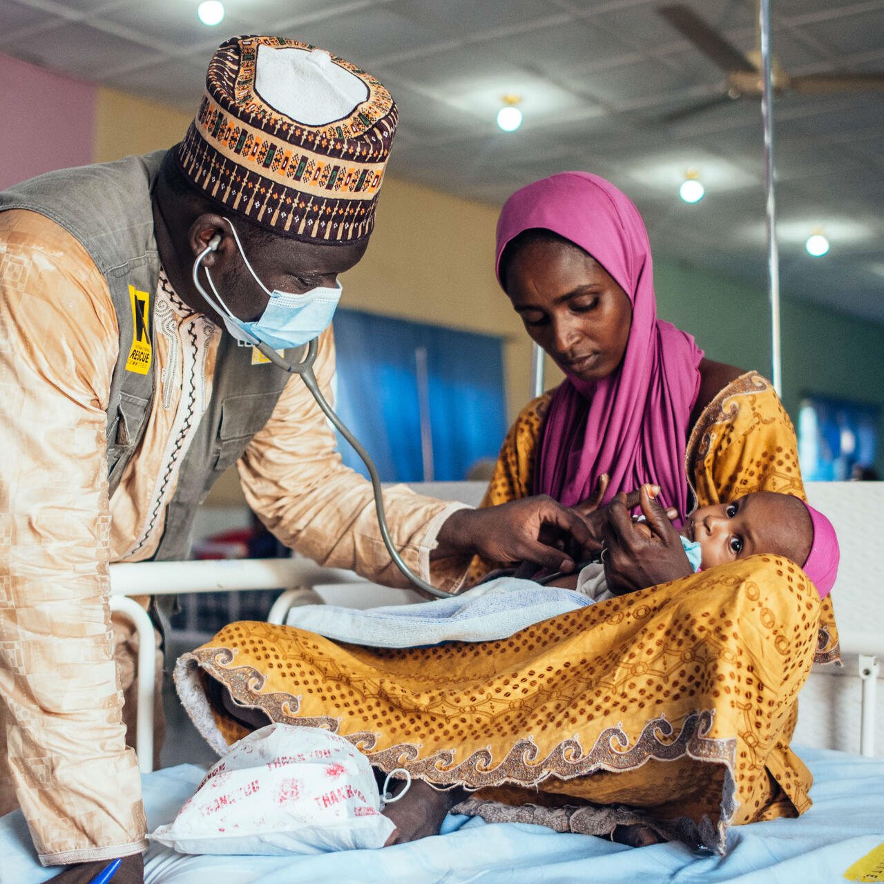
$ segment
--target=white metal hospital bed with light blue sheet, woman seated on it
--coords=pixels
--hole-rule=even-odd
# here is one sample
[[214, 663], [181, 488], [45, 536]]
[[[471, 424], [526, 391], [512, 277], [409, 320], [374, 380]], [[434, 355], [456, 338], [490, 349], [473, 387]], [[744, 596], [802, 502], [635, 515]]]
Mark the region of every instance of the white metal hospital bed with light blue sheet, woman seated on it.
[[[415, 484], [415, 491], [476, 503], [484, 484]], [[691, 852], [681, 844], [641, 850], [585, 835], [558, 834], [527, 824], [485, 824], [450, 815], [443, 834], [381, 851], [310, 857], [182, 857], [154, 846], [148, 884], [273, 884], [281, 881], [884, 881], [884, 592], [877, 566], [884, 523], [884, 483], [810, 483], [811, 503], [838, 530], [841, 568], [833, 599], [843, 666], [815, 666], [801, 695], [793, 745], [814, 774], [812, 809], [799, 819], [734, 827], [725, 857]], [[111, 567], [111, 606], [131, 616], [148, 639], [141, 666], [153, 671], [153, 627], [133, 595], [265, 590], [284, 587], [269, 619], [282, 623], [292, 606], [324, 601], [368, 607], [416, 600], [406, 590], [372, 587], [352, 572], [287, 560], [162, 562]], [[139, 679], [139, 742], [149, 824], [170, 821], [202, 779], [182, 765], [150, 772], [153, 678]], [[0, 819], [0, 884], [37, 884], [51, 870], [34, 857], [18, 812]], [[865, 862], [865, 866], [862, 864]], [[859, 864], [859, 865], [856, 865]], [[877, 871], [875, 871], [877, 869]], [[296, 870], [296, 871], [295, 871]], [[871, 870], [871, 871], [870, 871]], [[861, 878], [865, 873], [865, 878]]]

